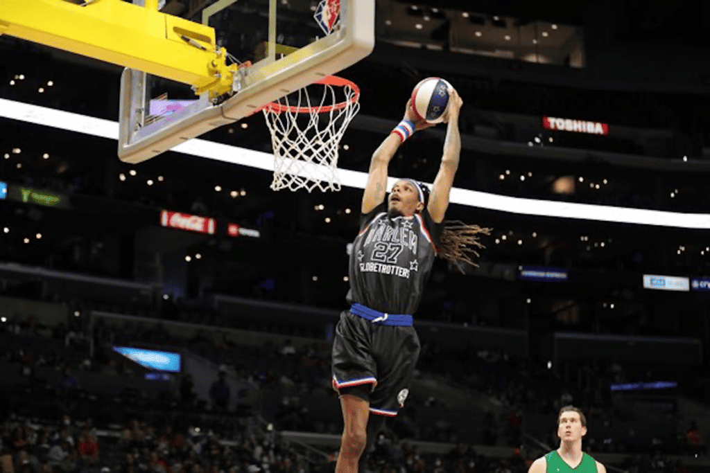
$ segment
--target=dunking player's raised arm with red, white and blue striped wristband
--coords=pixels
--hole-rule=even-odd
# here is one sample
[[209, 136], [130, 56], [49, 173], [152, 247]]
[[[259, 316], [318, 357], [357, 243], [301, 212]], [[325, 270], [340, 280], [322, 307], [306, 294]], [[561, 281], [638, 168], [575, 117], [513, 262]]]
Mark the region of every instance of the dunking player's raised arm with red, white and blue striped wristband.
[[367, 177], [367, 185], [362, 196], [362, 213], [368, 213], [385, 200], [387, 194], [387, 169], [392, 157], [397, 152], [404, 141], [409, 138], [415, 130], [423, 130], [432, 126], [431, 123], [417, 120], [412, 111], [411, 100], [407, 101], [404, 119], [392, 130], [392, 133], [373, 152], [370, 162], [370, 171]]

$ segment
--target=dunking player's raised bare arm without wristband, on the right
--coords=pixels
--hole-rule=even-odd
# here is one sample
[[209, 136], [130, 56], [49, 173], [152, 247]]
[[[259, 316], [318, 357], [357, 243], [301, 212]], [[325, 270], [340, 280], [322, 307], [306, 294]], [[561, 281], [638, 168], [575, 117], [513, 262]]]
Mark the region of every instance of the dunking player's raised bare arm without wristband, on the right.
[[456, 89], [449, 91], [449, 111], [447, 112], [447, 133], [444, 141], [444, 154], [439, 172], [434, 179], [432, 195], [427, 205], [432, 220], [436, 223], [444, 221], [444, 214], [449, 207], [449, 192], [454, 185], [454, 176], [459, 169], [461, 155], [461, 134], [459, 133], [459, 111], [463, 101]]

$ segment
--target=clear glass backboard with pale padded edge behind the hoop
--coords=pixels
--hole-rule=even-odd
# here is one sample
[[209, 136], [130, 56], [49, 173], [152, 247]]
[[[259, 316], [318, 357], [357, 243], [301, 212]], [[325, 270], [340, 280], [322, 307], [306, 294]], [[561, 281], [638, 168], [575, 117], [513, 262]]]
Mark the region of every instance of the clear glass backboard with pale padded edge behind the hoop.
[[197, 96], [186, 84], [124, 69], [118, 153], [124, 162], [148, 160], [250, 116], [359, 62], [375, 42], [374, 0], [219, 0], [188, 19], [214, 28], [217, 48], [241, 63], [232, 90]]

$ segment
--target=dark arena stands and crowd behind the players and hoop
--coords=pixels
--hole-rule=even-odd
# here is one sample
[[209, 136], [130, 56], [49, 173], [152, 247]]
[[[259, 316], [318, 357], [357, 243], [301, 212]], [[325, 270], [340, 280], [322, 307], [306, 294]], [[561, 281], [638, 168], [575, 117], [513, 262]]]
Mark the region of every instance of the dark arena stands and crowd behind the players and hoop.
[[[199, 21], [210, 3], [163, 8]], [[710, 472], [710, 12], [548, 3], [378, 0], [375, 50], [339, 73], [361, 89], [339, 167], [359, 172], [417, 82], [457, 88], [454, 187], [481, 206], [447, 219], [494, 229], [478, 267], [435, 262], [415, 380], [368, 472], [527, 472], [568, 404], [608, 472]], [[279, 2], [290, 43], [315, 4]], [[263, 9], [220, 13], [231, 54], [256, 55]], [[115, 123], [121, 70], [0, 35], [3, 104]], [[444, 131], [415, 133], [390, 175], [432, 182]], [[271, 152], [261, 113], [201, 139]], [[362, 189], [271, 179], [173, 151], [129, 165], [116, 140], [0, 118], [3, 473], [334, 471]]]

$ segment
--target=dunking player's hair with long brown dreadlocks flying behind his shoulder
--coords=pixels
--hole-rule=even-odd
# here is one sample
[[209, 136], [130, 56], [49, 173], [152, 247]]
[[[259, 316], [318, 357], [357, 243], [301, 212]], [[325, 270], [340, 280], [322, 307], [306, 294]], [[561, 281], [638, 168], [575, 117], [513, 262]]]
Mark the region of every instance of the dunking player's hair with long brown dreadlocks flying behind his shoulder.
[[[429, 187], [423, 182], [417, 182], [414, 179], [405, 179], [415, 184], [419, 191], [420, 201], [425, 206], [429, 202]], [[478, 266], [474, 262], [474, 257], [480, 257], [479, 253], [474, 248], [485, 248], [479, 241], [479, 235], [491, 235], [493, 228], [482, 228], [477, 225], [469, 225], [461, 221], [444, 221], [442, 236], [437, 247], [437, 256], [449, 260], [461, 269], [461, 263], [466, 263], [471, 266]]]

